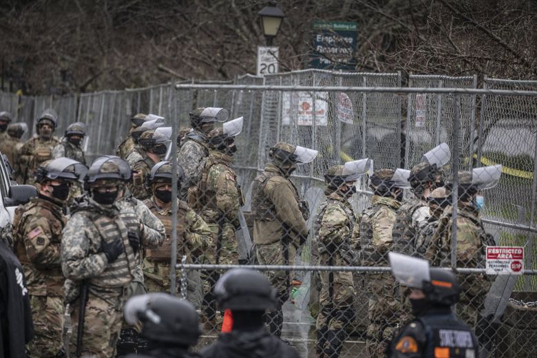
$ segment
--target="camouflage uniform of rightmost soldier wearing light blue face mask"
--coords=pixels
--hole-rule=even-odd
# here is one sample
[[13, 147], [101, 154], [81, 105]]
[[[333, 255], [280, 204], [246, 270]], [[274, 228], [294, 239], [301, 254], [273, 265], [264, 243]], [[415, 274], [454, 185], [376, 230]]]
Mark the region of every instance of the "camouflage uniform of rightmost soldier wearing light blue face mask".
[[[483, 268], [485, 266], [485, 246], [493, 245], [494, 239], [485, 232], [479, 212], [474, 207], [459, 203], [457, 212], [457, 252], [456, 266]], [[447, 207], [425, 253], [432, 266], [450, 266], [452, 207]], [[478, 313], [484, 307], [485, 295], [491, 282], [486, 275], [457, 275], [461, 283], [461, 300], [457, 304], [457, 315], [466, 324], [475, 327]]]

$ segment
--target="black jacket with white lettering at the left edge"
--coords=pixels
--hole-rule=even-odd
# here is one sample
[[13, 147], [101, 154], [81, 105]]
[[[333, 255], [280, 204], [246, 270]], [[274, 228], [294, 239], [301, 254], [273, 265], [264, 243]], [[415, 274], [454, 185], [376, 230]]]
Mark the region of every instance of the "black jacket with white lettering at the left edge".
[[26, 357], [25, 344], [34, 337], [32, 308], [23, 268], [0, 240], [0, 357]]

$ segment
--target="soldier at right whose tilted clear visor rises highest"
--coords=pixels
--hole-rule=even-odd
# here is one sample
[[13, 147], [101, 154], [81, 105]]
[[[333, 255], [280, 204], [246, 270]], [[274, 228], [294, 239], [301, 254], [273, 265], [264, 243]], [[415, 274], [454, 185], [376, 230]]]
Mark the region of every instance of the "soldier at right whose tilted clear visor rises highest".
[[418, 233], [429, 218], [427, 198], [436, 187], [436, 180], [441, 176], [440, 169], [450, 160], [450, 156], [450, 147], [442, 143], [425, 153], [421, 162], [410, 170], [408, 182], [414, 197], [404, 201], [397, 210], [392, 251], [415, 254]]

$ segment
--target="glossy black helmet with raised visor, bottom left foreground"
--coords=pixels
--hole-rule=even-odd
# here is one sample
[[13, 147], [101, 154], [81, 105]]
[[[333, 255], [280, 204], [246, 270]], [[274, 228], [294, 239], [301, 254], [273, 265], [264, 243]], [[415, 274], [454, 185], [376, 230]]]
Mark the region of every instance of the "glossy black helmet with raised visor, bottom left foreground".
[[124, 313], [128, 324], [141, 322], [140, 335], [150, 341], [193, 346], [202, 334], [194, 306], [167, 293], [132, 297], [125, 304]]

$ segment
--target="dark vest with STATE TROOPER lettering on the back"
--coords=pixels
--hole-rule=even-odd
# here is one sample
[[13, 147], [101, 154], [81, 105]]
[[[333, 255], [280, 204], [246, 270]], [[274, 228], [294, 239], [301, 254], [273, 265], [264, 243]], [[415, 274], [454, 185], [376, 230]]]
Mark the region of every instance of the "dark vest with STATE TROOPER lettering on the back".
[[423, 357], [479, 357], [476, 336], [452, 313], [418, 317], [417, 321], [427, 337]]

